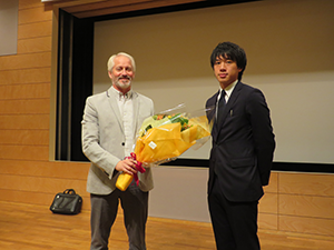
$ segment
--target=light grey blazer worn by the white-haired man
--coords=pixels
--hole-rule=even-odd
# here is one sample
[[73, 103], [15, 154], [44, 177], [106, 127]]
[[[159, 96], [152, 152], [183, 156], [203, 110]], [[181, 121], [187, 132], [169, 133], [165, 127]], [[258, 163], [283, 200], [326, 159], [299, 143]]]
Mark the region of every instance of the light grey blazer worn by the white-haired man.
[[[119, 112], [118, 94], [110, 87], [106, 92], [88, 97], [82, 119], [82, 151], [91, 161], [87, 179], [87, 191], [95, 194], [109, 194], [116, 189], [119, 172], [116, 164], [125, 158], [125, 134]], [[134, 129], [140, 128], [143, 121], [154, 114], [153, 100], [132, 92]], [[139, 188], [153, 189], [150, 168], [145, 173], [138, 172]]]

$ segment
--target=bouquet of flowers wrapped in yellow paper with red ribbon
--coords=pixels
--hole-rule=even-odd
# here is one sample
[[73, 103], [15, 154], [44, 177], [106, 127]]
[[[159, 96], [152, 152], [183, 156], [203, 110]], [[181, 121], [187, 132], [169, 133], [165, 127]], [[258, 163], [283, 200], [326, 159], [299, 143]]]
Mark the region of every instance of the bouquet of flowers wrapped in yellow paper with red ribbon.
[[[175, 109], [168, 110], [174, 111]], [[189, 148], [199, 148], [210, 136], [210, 128], [205, 114], [191, 117], [186, 112], [161, 112], [147, 118], [139, 131], [131, 158], [137, 161], [137, 169], [145, 172], [145, 167], [158, 166], [175, 160]], [[126, 190], [138, 177], [121, 173], [116, 187]]]

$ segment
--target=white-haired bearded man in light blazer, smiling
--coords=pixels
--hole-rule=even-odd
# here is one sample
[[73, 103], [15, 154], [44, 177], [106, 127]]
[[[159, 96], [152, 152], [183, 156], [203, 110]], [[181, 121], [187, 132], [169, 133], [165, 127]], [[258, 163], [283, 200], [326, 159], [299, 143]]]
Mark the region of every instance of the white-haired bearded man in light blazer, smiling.
[[[136, 131], [147, 117], [154, 114], [151, 99], [131, 90], [135, 61], [118, 53], [108, 61], [112, 86], [104, 93], [87, 98], [82, 120], [82, 150], [91, 161], [87, 191], [91, 202], [90, 250], [108, 250], [108, 239], [117, 216], [119, 201], [130, 250], [146, 250], [145, 228], [148, 191], [153, 189], [150, 169], [139, 173], [136, 162], [125, 159], [132, 152]], [[138, 172], [139, 186], [132, 181], [126, 191], [115, 184], [119, 172]]]

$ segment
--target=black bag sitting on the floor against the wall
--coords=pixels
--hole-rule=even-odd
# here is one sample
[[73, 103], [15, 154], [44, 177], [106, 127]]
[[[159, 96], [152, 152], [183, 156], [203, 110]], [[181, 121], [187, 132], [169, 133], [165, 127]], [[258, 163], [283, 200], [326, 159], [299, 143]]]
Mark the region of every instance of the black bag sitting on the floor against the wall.
[[73, 189], [67, 189], [56, 194], [50, 210], [53, 213], [77, 214], [81, 211], [82, 198]]

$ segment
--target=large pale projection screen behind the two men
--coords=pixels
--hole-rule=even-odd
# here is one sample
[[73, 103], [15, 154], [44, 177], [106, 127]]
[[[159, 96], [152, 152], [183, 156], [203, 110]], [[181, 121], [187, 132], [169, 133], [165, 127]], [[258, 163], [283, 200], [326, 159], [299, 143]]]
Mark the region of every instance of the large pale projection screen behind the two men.
[[[233, 41], [248, 57], [244, 82], [262, 89], [272, 110], [275, 161], [334, 163], [333, 13], [332, 0], [266, 0], [98, 22], [95, 91], [110, 86], [108, 57], [127, 51], [137, 62], [134, 89], [157, 112], [180, 102], [203, 109], [218, 89], [210, 52]], [[206, 159], [208, 150], [189, 156]]]

